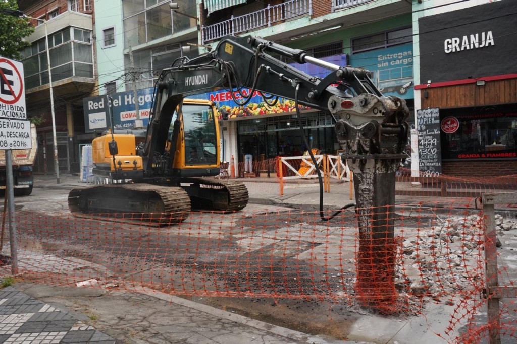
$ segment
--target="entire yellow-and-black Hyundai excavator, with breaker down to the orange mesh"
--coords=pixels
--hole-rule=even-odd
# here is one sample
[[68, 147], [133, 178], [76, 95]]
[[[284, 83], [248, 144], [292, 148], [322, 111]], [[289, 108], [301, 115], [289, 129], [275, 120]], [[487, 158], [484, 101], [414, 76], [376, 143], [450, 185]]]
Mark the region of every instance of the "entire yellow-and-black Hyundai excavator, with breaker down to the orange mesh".
[[[273, 55], [329, 73], [314, 77]], [[260, 38], [226, 36], [214, 51], [179, 58], [161, 72], [145, 135], [111, 132], [94, 140], [93, 173], [121, 183], [71, 190], [72, 213], [117, 213], [126, 221], [165, 225], [183, 221], [191, 207], [244, 208], [244, 184], [206, 178], [219, 174], [216, 109], [209, 102], [187, 100], [219, 89], [238, 95], [238, 105], [246, 105], [258, 92], [270, 105], [277, 96], [294, 100], [297, 112], [299, 105], [328, 111], [343, 158], [354, 172], [357, 207], [394, 204], [395, 172], [408, 134], [405, 101], [384, 96], [367, 70], [334, 65]], [[374, 218], [385, 221], [386, 215]]]

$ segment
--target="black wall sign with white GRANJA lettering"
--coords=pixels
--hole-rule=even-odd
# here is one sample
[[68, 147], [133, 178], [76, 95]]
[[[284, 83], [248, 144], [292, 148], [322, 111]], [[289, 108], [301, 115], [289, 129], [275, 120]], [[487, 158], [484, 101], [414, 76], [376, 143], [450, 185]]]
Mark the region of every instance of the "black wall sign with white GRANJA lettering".
[[503, 0], [420, 18], [421, 85], [515, 73], [516, 12]]

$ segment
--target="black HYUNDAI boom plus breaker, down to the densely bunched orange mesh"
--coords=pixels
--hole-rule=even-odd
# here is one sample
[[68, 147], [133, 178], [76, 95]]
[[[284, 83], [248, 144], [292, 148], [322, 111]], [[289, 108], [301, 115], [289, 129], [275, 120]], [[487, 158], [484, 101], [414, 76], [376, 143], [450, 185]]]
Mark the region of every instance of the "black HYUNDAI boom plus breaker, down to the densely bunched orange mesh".
[[[280, 58], [316, 64], [329, 73], [315, 77]], [[244, 101], [255, 91], [265, 101], [270, 96], [294, 100], [329, 111], [336, 122], [337, 141], [354, 173], [357, 208], [365, 209], [358, 210], [360, 233], [370, 236], [380, 228], [373, 237], [392, 237], [393, 219], [386, 214], [393, 214], [395, 173], [404, 157], [409, 110], [403, 99], [384, 96], [369, 75], [362, 68], [334, 65], [260, 38], [226, 36], [214, 51], [178, 59], [160, 74], [142, 154], [146, 168], [152, 168], [153, 152], [163, 149], [174, 109], [189, 95], [226, 89], [241, 92]]]

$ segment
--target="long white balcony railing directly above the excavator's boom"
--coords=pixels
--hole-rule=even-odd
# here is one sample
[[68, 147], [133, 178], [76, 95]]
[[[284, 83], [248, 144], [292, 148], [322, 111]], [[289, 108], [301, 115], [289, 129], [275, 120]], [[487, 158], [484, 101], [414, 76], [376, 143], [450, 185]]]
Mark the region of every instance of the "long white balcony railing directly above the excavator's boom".
[[239, 15], [213, 25], [203, 26], [203, 44], [226, 35], [271, 26], [274, 23], [290, 20], [311, 11], [311, 0], [291, 0], [279, 5], [267, 5], [266, 8], [253, 13]]

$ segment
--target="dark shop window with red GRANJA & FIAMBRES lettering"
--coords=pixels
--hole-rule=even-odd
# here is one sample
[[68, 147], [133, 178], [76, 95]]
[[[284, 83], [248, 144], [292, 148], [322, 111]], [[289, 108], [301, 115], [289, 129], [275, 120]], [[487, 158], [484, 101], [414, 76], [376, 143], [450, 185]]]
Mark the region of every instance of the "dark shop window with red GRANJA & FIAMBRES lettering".
[[459, 126], [452, 134], [442, 131], [443, 160], [517, 158], [517, 113], [453, 117]]

